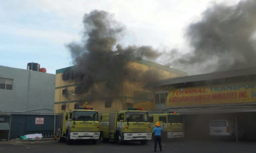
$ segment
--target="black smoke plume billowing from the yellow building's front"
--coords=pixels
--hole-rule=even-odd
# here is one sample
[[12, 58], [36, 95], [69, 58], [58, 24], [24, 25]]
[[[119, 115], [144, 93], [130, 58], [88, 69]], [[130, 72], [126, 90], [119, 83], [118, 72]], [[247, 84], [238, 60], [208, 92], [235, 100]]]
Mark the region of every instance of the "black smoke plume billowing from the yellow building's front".
[[75, 92], [82, 101], [111, 100], [122, 96], [122, 82], [147, 83], [161, 76], [158, 70], [142, 71], [131, 67], [129, 61], [157, 59], [161, 54], [151, 46], [118, 44], [125, 27], [112, 14], [94, 10], [84, 15], [84, 33], [80, 43], [69, 43], [72, 54], [72, 70], [63, 72], [64, 81], [77, 83]]

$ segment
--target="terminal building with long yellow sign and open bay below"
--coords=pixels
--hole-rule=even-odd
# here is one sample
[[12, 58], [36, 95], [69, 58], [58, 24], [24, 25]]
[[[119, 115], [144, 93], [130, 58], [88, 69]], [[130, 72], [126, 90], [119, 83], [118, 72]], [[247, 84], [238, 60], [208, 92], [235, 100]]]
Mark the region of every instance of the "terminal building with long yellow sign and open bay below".
[[208, 139], [210, 122], [220, 119], [237, 123], [247, 139], [256, 139], [255, 78], [254, 67], [163, 79], [144, 88], [154, 90], [156, 107], [184, 115], [188, 139]]

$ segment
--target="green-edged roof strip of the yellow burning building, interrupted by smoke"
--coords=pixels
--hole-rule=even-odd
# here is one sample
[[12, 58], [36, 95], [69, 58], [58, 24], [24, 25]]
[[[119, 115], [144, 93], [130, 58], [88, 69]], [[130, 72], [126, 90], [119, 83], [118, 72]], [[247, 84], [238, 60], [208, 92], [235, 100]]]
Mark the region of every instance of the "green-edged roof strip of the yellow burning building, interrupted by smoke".
[[[172, 72], [172, 73], [175, 73], [175, 74], [180, 74], [180, 75], [184, 75], [184, 76], [187, 75], [187, 72], [180, 71], [180, 70], [177, 70], [175, 68], [168, 67], [166, 65], [161, 65], [161, 64], [158, 64], [158, 63], [154, 63], [152, 61], [148, 61], [148, 60], [144, 60], [144, 59], [133, 60], [133, 61], [136, 62], [136, 63], [140, 63], [140, 64], [143, 64], [143, 65], [148, 65], [149, 67], [154, 67], [154, 68], [165, 70], [165, 71]], [[74, 66], [58, 69], [58, 70], [56, 70], [56, 74], [62, 73], [65, 70], [71, 70], [72, 67], [74, 67]]]

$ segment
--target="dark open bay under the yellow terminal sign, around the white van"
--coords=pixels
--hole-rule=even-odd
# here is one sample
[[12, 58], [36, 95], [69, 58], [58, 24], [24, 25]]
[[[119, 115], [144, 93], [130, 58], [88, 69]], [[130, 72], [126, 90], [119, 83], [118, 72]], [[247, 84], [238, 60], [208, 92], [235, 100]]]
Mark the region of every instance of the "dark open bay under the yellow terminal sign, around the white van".
[[[225, 107], [216, 109], [200, 108], [175, 110], [184, 115], [185, 138], [188, 140], [209, 140], [209, 126], [213, 120], [228, 120], [234, 123], [234, 135], [239, 136], [244, 130], [242, 139], [256, 140], [256, 107]], [[241, 138], [236, 137], [238, 142]]]

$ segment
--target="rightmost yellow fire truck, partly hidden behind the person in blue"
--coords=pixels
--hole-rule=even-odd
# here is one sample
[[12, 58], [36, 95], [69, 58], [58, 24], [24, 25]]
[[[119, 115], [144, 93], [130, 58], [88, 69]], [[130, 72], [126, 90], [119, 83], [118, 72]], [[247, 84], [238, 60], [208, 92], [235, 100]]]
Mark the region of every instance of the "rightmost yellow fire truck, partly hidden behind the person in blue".
[[163, 129], [163, 137], [184, 138], [183, 115], [177, 112], [150, 112], [149, 121], [151, 132], [155, 128], [155, 123], [159, 122]]

